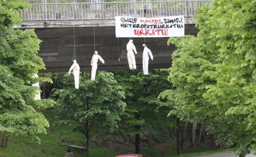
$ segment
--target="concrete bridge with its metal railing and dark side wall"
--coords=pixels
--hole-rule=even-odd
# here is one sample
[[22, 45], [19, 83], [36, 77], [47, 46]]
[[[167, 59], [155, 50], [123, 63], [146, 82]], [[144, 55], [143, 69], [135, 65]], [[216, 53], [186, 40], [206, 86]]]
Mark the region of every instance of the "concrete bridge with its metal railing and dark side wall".
[[[34, 0], [32, 7], [23, 10], [23, 25], [16, 28], [34, 28], [43, 42], [39, 55], [46, 64], [46, 71], [68, 71], [75, 55], [82, 71], [91, 69], [90, 61], [94, 46], [105, 60], [98, 64], [100, 70], [129, 69], [126, 58], [126, 44], [129, 38], [115, 37], [117, 15], [133, 17], [161, 17], [172, 15], [185, 16], [185, 34], [197, 35], [195, 20], [191, 18], [197, 7], [210, 0], [166, 0], [140, 2], [73, 2], [63, 0]], [[38, 3], [41, 2], [41, 3]], [[95, 1], [95, 0], [94, 0]], [[131, 0], [133, 1], [133, 0]], [[74, 36], [75, 34], [75, 36]], [[95, 34], [95, 35], [94, 35]], [[94, 45], [95, 36], [95, 45]], [[142, 44], [144, 41], [151, 49], [154, 60], [149, 68], [168, 68], [174, 46], [167, 46], [168, 38], [133, 38], [138, 54], [135, 55], [137, 67], [142, 69]], [[118, 58], [121, 59], [119, 62]]]

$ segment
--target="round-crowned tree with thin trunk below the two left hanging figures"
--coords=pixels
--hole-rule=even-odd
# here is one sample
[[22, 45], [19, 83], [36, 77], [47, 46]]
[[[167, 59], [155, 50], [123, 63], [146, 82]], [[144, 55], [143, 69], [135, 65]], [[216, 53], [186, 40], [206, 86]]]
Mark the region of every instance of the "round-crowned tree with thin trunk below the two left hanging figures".
[[58, 122], [73, 124], [75, 129], [86, 136], [87, 157], [89, 137], [92, 128], [113, 131], [123, 114], [126, 103], [124, 91], [114, 80], [112, 73], [98, 72], [96, 81], [89, 80], [89, 73], [80, 73], [80, 87], [74, 88], [72, 75], [64, 74], [62, 89], [55, 89], [55, 107]]

